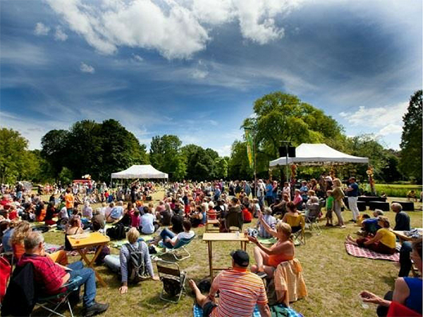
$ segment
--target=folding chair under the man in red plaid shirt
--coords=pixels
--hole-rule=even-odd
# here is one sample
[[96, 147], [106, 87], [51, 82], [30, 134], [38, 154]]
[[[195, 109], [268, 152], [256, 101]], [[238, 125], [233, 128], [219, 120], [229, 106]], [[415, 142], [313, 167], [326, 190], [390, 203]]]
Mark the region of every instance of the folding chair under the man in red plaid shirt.
[[[64, 292], [46, 297], [39, 297], [35, 306], [39, 306], [42, 309], [49, 311], [49, 316], [54, 314], [56, 316], [66, 317], [63, 314], [59, 313], [58, 309], [62, 304], [67, 304], [69, 312], [71, 313], [71, 317], [73, 317], [73, 311], [71, 303], [69, 302], [69, 296], [72, 292], [78, 290], [78, 282], [80, 282], [80, 280], [82, 280], [82, 278], [80, 276], [77, 276], [76, 278], [68, 282], [66, 285], [63, 285], [63, 287], [66, 287], [66, 290]], [[48, 305], [52, 305], [53, 308], [49, 308]]]

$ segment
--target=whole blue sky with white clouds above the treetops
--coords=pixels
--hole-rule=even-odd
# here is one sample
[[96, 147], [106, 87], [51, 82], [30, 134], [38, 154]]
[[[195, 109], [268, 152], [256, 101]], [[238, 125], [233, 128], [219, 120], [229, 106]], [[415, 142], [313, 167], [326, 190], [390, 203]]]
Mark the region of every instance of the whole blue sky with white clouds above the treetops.
[[422, 87], [422, 1], [1, 1], [0, 125], [40, 148], [76, 120], [228, 155], [281, 90], [398, 149]]

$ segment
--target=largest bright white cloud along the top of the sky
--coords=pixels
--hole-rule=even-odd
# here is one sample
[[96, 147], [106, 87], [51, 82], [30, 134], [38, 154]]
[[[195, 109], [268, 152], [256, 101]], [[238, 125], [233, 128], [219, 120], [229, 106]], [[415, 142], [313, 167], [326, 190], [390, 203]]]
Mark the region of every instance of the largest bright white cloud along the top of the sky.
[[[283, 37], [276, 17], [300, 0], [102, 1], [47, 0], [71, 30], [99, 53], [119, 46], [157, 49], [166, 58], [190, 58], [205, 49], [209, 31], [237, 20], [245, 39], [266, 44]], [[100, 5], [99, 5], [100, 4]], [[199, 75], [204, 75], [199, 73]]]

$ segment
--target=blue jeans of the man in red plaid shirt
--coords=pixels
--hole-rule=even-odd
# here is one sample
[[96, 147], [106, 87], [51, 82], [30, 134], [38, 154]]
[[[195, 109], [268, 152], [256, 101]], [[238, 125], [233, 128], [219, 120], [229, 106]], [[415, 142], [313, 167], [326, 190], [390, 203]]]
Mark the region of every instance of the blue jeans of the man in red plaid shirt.
[[94, 304], [95, 294], [97, 293], [97, 289], [95, 286], [95, 274], [92, 268], [84, 268], [84, 265], [81, 261], [73, 262], [68, 265], [68, 268], [71, 268], [72, 271], [69, 273], [71, 274], [70, 280], [80, 276], [82, 280], [78, 282], [78, 291], [75, 293], [78, 295], [79, 299], [79, 292], [81, 286], [84, 285], [84, 297], [82, 297], [82, 301], [84, 302], [85, 307], [90, 307]]

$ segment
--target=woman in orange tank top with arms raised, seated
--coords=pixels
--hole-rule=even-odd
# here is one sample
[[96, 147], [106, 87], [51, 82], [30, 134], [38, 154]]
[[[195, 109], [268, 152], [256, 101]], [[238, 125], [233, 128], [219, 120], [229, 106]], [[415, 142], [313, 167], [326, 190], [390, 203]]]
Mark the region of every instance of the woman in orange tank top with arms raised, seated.
[[[263, 220], [263, 215], [260, 214], [259, 221], [264, 226], [265, 230], [278, 241], [270, 248], [264, 247], [257, 237], [248, 236], [248, 240], [257, 244], [254, 248], [254, 257], [257, 265], [251, 266], [253, 273], [258, 273], [260, 276], [267, 275], [272, 278], [276, 267], [283, 261], [290, 261], [295, 257], [295, 247], [293, 242], [293, 235], [290, 225], [279, 221], [276, 224], [276, 230], [272, 229]], [[265, 274], [264, 274], [265, 273]]]

